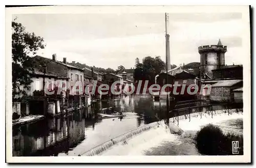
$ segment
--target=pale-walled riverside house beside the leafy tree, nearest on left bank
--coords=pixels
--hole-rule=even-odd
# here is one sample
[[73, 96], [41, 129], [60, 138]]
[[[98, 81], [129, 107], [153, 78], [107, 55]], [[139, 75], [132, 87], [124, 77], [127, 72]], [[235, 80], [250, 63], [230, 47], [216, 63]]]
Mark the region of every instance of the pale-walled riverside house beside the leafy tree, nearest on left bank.
[[[22, 97], [20, 102], [14, 103], [14, 107], [19, 106], [19, 108], [15, 108], [15, 110], [13, 110], [13, 113], [16, 112], [18, 115], [22, 114], [23, 116], [45, 115], [46, 111], [44, 110], [44, 108], [38, 108], [38, 107], [43, 107], [45, 105], [44, 104], [45, 99], [42, 98], [43, 96], [46, 96], [44, 89], [48, 90], [49, 92], [53, 92], [57, 88], [63, 88], [63, 86], [67, 85], [68, 78], [65, 76], [47, 71], [46, 66], [43, 66], [41, 71], [34, 69], [34, 71], [31, 72], [30, 76], [32, 79], [32, 83], [30, 84], [30, 89], [29, 90], [23, 89], [28, 96]], [[66, 91], [67, 91], [67, 88], [63, 88], [60, 90], [61, 96], [63, 96], [63, 98], [66, 97], [66, 94], [65, 94]], [[51, 102], [52, 99], [49, 99], [50, 105], [53, 103], [54, 105], [56, 104], [55, 105], [57, 107], [56, 111], [58, 112], [60, 112], [61, 96], [59, 96], [59, 99], [54, 99], [55, 100], [54, 102]]]

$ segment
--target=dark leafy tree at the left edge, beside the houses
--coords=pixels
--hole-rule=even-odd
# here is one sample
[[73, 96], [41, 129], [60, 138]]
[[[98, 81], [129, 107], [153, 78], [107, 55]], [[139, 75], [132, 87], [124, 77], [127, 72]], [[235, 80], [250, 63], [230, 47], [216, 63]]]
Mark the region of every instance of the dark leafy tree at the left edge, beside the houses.
[[30, 74], [33, 72], [33, 56], [39, 48], [45, 48], [44, 38], [28, 33], [25, 27], [12, 21], [12, 98], [17, 100], [26, 96], [24, 89], [30, 89], [32, 82]]

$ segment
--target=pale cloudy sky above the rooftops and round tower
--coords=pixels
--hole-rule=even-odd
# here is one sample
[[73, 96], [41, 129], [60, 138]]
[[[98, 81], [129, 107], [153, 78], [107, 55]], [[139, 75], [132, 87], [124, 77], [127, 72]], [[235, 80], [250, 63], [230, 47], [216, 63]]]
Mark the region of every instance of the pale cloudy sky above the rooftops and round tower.
[[[160, 55], [165, 61], [164, 13], [16, 14], [28, 32], [43, 37], [37, 54], [67, 58], [89, 66], [117, 69], [135, 66], [135, 59]], [[198, 47], [227, 45], [225, 64], [243, 64], [241, 13], [169, 14], [170, 63], [200, 62]]]

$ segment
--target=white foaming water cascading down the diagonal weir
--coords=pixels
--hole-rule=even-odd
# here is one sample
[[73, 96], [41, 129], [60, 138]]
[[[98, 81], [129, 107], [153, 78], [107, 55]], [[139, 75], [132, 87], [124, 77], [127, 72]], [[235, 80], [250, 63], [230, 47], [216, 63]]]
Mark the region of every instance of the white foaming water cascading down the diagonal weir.
[[[151, 148], [153, 146], [160, 145], [163, 141], [176, 142], [177, 136], [186, 136], [189, 131], [193, 131], [195, 134], [195, 132], [199, 130], [201, 126], [208, 123], [216, 124], [223, 120], [242, 118], [242, 111], [242, 109], [224, 109], [193, 113], [190, 115], [190, 122], [187, 117], [179, 116], [179, 127], [177, 126], [177, 121], [173, 122], [173, 118], [170, 118], [169, 127], [165, 125], [163, 121], [150, 123], [112, 138], [109, 141], [100, 144], [80, 155], [95, 156], [102, 154], [109, 155], [112, 153], [117, 155], [126, 155], [129, 153], [129, 150], [132, 150], [133, 152], [134, 150], [140, 151], [139, 149], [135, 148], [141, 146], [143, 146], [143, 148]], [[233, 128], [231, 128], [231, 131], [234, 131], [232, 129]], [[176, 143], [180, 144], [180, 142]]]

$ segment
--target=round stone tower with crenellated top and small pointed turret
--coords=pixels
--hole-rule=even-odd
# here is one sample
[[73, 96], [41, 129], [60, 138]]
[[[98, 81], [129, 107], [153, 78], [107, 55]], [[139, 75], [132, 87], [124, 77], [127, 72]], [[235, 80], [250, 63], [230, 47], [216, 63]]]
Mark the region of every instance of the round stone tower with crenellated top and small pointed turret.
[[223, 46], [221, 40], [217, 45], [204, 45], [198, 47], [200, 53], [200, 78], [212, 78], [211, 70], [225, 67], [225, 52], [227, 46]]

